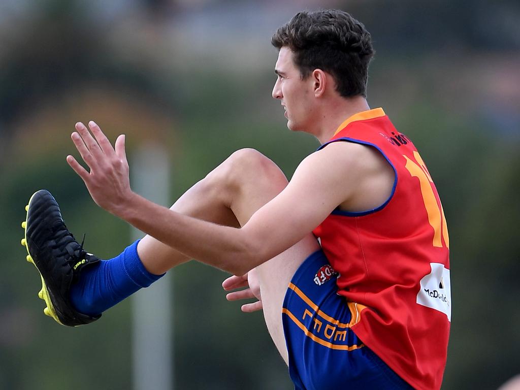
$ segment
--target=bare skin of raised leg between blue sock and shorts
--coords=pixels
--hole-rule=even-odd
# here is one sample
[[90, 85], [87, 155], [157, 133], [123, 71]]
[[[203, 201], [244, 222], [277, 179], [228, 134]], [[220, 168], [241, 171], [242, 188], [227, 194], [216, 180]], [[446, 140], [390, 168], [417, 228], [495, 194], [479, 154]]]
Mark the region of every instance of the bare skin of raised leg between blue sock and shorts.
[[[243, 226], [287, 183], [274, 162], [254, 149], [242, 149], [189, 189], [172, 210], [218, 224]], [[283, 297], [296, 269], [318, 249], [316, 238], [309, 233], [292, 248], [256, 268], [267, 328], [286, 363], [287, 348], [281, 322]], [[142, 263], [153, 274], [162, 274], [188, 260], [150, 236], [139, 242], [137, 250]]]

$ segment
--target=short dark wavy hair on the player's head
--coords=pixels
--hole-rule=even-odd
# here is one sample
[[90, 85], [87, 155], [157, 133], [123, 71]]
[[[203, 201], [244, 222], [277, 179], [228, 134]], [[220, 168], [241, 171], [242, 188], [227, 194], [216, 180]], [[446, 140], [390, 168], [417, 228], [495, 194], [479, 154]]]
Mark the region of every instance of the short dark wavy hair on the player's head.
[[302, 79], [321, 69], [332, 74], [341, 96], [367, 96], [368, 66], [374, 49], [365, 25], [347, 12], [298, 12], [278, 29], [271, 43], [278, 49], [291, 49]]

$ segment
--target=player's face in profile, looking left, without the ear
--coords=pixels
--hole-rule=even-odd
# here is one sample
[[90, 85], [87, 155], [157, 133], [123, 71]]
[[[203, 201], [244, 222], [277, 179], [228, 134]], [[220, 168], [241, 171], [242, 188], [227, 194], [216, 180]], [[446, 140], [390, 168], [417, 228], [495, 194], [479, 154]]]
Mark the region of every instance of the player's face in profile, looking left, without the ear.
[[272, 89], [272, 97], [280, 99], [285, 109], [287, 127], [293, 131], [306, 131], [313, 114], [312, 81], [302, 80], [300, 70], [293, 61], [293, 53], [282, 47], [275, 65], [278, 78]]

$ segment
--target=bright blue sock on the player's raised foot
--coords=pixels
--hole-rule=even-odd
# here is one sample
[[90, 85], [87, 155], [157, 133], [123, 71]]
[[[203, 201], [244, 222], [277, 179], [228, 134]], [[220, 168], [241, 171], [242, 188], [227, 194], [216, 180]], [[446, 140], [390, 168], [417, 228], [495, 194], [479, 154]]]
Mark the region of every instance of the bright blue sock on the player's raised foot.
[[142, 287], [148, 287], [163, 275], [150, 274], [137, 254], [139, 240], [119, 256], [101, 260], [81, 271], [71, 286], [70, 298], [75, 309], [96, 316], [121, 302]]

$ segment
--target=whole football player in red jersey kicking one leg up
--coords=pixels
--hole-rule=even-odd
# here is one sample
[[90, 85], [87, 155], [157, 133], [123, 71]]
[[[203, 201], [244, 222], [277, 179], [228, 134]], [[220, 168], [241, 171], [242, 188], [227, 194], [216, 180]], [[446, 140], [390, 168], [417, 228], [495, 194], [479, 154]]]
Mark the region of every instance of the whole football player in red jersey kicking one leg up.
[[45, 313], [62, 324], [101, 312], [190, 258], [229, 271], [229, 300], [265, 321], [297, 389], [440, 388], [451, 318], [449, 240], [423, 160], [366, 101], [370, 34], [346, 12], [300, 12], [272, 38], [272, 96], [293, 131], [321, 147], [291, 181], [261, 153], [233, 153], [171, 209], [129, 185], [125, 138], [94, 122], [67, 161], [94, 201], [148, 236], [100, 261], [33, 194], [22, 224]]

